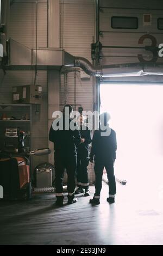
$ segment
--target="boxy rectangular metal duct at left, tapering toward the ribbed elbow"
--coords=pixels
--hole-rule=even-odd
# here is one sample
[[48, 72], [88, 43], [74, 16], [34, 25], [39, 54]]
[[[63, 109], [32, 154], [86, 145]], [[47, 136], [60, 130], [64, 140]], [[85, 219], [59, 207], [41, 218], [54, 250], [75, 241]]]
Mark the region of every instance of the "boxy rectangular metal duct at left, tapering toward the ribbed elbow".
[[10, 38], [6, 70], [60, 70], [62, 66], [74, 64], [74, 57], [61, 48], [29, 48]]

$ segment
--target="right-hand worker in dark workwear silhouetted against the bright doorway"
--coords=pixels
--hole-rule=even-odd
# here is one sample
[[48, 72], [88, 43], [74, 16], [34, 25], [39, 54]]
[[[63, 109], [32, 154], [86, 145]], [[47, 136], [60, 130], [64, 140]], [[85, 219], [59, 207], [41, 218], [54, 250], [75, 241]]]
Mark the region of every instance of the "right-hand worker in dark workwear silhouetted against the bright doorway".
[[[96, 130], [92, 139], [92, 148], [90, 153], [90, 161], [93, 162], [95, 156], [95, 194], [93, 199], [90, 199], [91, 204], [100, 203], [100, 192], [102, 189], [102, 175], [105, 167], [109, 180], [109, 197], [107, 201], [109, 203], [115, 202], [116, 194], [116, 182], [114, 176], [114, 161], [116, 159], [116, 132], [110, 129], [108, 121], [110, 119], [109, 113], [103, 113], [100, 115], [99, 130]], [[106, 127], [106, 130], [101, 129]], [[105, 131], [107, 133], [104, 136]]]

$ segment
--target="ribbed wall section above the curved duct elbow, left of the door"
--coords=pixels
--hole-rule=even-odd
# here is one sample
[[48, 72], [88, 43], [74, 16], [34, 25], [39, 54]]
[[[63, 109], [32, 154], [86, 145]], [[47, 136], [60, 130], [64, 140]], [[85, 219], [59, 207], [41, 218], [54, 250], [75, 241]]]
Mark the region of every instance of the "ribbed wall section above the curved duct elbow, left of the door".
[[95, 10], [90, 1], [87, 1], [87, 4], [84, 5], [77, 3], [78, 1], [76, 1], [76, 4], [64, 4], [62, 46], [65, 49], [68, 47], [69, 50], [70, 48], [87, 48], [87, 51], [90, 51], [90, 44], [95, 35]]

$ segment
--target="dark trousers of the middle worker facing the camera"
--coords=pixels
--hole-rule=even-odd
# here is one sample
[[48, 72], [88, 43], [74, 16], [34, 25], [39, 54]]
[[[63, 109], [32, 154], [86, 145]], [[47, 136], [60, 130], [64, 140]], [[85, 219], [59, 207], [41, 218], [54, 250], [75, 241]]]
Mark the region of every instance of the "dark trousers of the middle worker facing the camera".
[[89, 188], [87, 166], [89, 164], [88, 154], [78, 153], [77, 155], [77, 181], [78, 187]]

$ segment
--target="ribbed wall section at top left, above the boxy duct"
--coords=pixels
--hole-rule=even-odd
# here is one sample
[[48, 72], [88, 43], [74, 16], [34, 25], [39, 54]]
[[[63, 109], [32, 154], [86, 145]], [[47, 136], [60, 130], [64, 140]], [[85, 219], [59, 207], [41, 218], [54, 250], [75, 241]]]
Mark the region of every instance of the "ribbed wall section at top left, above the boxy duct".
[[[46, 1], [45, 1], [46, 2]], [[47, 47], [47, 3], [38, 3], [37, 46]], [[10, 9], [9, 36], [28, 47], [36, 46], [36, 4], [14, 3]]]

